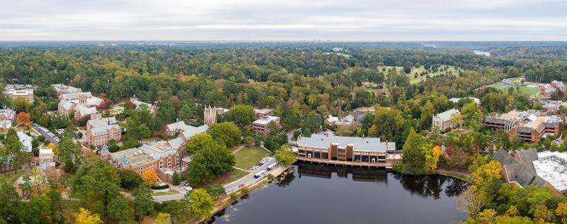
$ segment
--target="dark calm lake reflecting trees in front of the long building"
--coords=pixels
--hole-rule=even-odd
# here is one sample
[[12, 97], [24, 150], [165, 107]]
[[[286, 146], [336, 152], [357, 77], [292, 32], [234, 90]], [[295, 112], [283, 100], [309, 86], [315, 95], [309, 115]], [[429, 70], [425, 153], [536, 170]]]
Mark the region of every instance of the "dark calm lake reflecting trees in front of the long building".
[[450, 223], [468, 186], [439, 175], [298, 163], [296, 172], [240, 198], [210, 223]]

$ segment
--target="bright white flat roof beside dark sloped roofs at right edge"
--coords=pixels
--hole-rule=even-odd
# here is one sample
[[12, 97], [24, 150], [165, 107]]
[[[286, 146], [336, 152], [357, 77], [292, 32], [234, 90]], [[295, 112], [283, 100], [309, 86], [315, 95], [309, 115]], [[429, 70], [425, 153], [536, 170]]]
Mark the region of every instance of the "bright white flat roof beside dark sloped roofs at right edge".
[[539, 152], [534, 168], [539, 177], [558, 191], [567, 190], [567, 152]]

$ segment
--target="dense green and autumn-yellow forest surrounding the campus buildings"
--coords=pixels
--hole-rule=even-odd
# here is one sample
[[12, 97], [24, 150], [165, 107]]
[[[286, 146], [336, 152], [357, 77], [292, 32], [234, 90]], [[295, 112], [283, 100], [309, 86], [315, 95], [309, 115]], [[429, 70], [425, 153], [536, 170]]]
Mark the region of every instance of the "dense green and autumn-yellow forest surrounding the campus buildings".
[[[567, 151], [567, 144], [551, 145], [551, 140], [559, 136], [533, 144], [521, 142], [481, 123], [490, 113], [541, 109], [543, 105], [532, 101], [519, 87], [503, 91], [489, 85], [510, 77], [541, 83], [566, 81], [566, 49], [565, 43], [0, 43], [1, 83], [38, 86], [33, 103], [2, 97], [0, 106], [27, 113], [30, 121], [52, 131], [64, 129], [62, 152], [69, 154], [64, 162], [69, 168], [66, 171], [77, 174], [73, 191], [81, 195], [81, 203], [91, 210], [96, 208], [94, 211], [106, 218], [131, 220], [134, 214], [137, 217], [173, 208], [164, 209], [167, 203], [154, 206], [151, 199], [142, 211], [118, 213], [97, 207], [98, 204], [93, 206], [107, 203], [93, 202], [93, 198], [103, 197], [123, 205], [124, 198], [117, 193], [120, 186], [129, 186], [124, 182], [139, 178], [135, 173], [125, 174], [99, 160], [82, 161], [74, 157], [79, 154], [79, 146], [71, 138], [77, 137], [75, 128], [84, 126], [86, 120], [75, 121], [47, 113], [57, 110], [57, 97], [51, 84], [69, 84], [101, 96], [108, 102], [104, 108], [97, 108], [105, 111], [104, 116], [110, 116], [111, 104], [125, 102], [125, 111], [117, 116], [126, 130], [124, 140], [120, 146], [113, 142], [109, 147], [111, 152], [140, 146], [142, 139], [169, 138], [163, 133], [164, 126], [175, 121], [200, 125], [205, 106], [230, 108], [206, 136], [201, 135], [187, 145], [202, 164], [214, 164], [221, 157], [218, 155], [229, 161], [218, 163], [224, 165], [218, 166], [222, 169], [203, 165], [198, 169], [203, 171], [201, 175], [183, 177], [194, 186], [232, 169], [234, 158], [228, 152], [230, 147], [262, 142], [268, 150], [276, 152], [286, 147], [290, 132], [297, 138], [329, 129], [337, 135], [379, 137], [395, 142], [397, 149], [403, 150], [405, 162], [403, 167], [396, 167], [398, 172], [423, 174], [441, 167], [470, 173], [473, 188], [467, 191], [468, 196], [483, 197], [486, 202], [482, 209], [468, 210], [471, 223], [484, 222], [488, 215], [492, 215], [488, 217], [490, 220], [500, 215], [512, 223], [520, 215], [527, 220], [564, 222], [561, 218], [565, 216], [566, 198], [542, 193], [541, 188], [535, 187], [511, 190], [498, 175], [487, 177], [483, 173], [499, 171], [499, 165], [489, 162], [495, 149], [536, 147]], [[473, 50], [485, 50], [491, 56], [476, 55]], [[155, 103], [159, 107], [155, 117], [148, 108], [131, 106], [127, 100], [131, 96]], [[471, 96], [480, 102], [449, 100]], [[375, 113], [366, 113], [359, 125], [332, 127], [322, 122], [329, 115], [337, 116], [339, 111], [350, 112], [361, 107], [374, 107]], [[255, 135], [249, 125], [254, 119], [252, 108], [273, 109], [274, 115], [281, 118], [281, 127], [269, 127], [268, 134]], [[432, 128], [432, 116], [450, 108], [458, 108], [462, 114], [454, 118], [459, 131], [464, 129], [458, 135], [442, 135]], [[560, 116], [566, 113], [565, 108], [559, 111]], [[13, 135], [6, 135], [8, 140], [4, 142], [8, 145], [16, 142]], [[441, 145], [447, 149], [447, 158], [440, 157]], [[200, 148], [206, 150], [196, 150]], [[291, 155], [291, 162], [293, 159]], [[190, 167], [189, 172], [192, 171]], [[106, 173], [111, 175], [105, 176]], [[89, 187], [99, 186], [89, 181], [96, 182], [93, 179], [100, 177], [108, 179], [103, 184], [112, 186], [112, 195], [99, 196], [100, 192]], [[147, 188], [140, 186], [135, 194], [149, 198]], [[16, 194], [7, 186], [0, 191], [13, 197]], [[534, 199], [529, 206], [512, 201], [518, 196], [537, 197], [537, 194], [546, 196], [547, 201]], [[55, 191], [47, 196], [52, 198], [40, 199], [45, 199], [45, 203], [60, 200]], [[37, 200], [32, 202], [42, 202]], [[21, 201], [14, 203], [18, 208], [23, 206]], [[169, 206], [174, 207], [175, 203]], [[57, 213], [53, 209], [51, 223], [62, 222], [61, 209], [57, 208]], [[558, 214], [549, 217], [534, 212], [553, 209]], [[559, 209], [563, 209], [560, 211], [563, 216]], [[180, 213], [185, 218], [185, 211]]]

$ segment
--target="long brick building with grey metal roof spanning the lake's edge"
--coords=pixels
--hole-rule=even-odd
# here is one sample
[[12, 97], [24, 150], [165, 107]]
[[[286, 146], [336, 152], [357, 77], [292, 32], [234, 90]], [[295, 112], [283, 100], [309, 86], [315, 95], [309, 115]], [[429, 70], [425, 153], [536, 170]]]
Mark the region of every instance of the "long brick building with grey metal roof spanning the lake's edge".
[[300, 136], [297, 141], [297, 159], [328, 164], [392, 167], [403, 162], [395, 142], [381, 142], [380, 138], [345, 137], [332, 134]]

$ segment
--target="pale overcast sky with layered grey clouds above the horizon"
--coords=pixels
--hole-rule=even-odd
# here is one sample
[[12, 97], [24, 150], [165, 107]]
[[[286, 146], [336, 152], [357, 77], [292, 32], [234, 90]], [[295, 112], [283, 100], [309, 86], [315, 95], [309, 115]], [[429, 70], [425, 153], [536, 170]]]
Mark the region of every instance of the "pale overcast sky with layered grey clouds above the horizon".
[[567, 40], [565, 0], [4, 0], [0, 40]]

